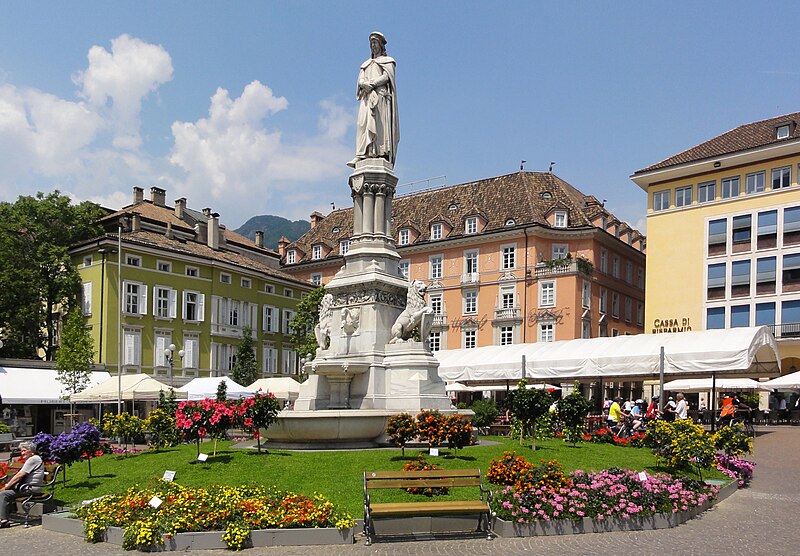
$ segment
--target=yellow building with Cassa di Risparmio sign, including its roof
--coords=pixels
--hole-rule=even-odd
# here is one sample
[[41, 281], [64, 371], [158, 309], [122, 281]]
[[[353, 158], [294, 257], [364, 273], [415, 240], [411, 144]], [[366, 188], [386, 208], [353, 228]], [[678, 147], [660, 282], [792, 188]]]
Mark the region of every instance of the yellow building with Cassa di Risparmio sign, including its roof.
[[646, 333], [768, 325], [800, 368], [800, 113], [739, 126], [631, 179], [647, 192]]

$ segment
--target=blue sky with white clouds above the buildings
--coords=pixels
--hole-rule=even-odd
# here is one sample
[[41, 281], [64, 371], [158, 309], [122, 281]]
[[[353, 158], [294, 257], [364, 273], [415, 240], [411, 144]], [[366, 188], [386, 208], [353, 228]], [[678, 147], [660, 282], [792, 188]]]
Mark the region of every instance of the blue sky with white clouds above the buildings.
[[0, 0], [0, 201], [132, 188], [238, 228], [351, 206], [356, 76], [397, 62], [398, 194], [553, 172], [646, 231], [630, 175], [800, 111], [800, 2]]

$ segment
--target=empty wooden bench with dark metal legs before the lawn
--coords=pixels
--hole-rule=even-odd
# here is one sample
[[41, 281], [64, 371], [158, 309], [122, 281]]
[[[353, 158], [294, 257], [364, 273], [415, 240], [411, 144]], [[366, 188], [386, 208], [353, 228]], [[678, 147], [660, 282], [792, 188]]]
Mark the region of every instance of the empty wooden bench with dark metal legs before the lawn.
[[[373, 503], [370, 491], [375, 489], [456, 488], [478, 487], [479, 500], [445, 500], [419, 502]], [[486, 499], [484, 500], [484, 494]], [[434, 469], [430, 471], [365, 471], [364, 472], [364, 535], [367, 545], [375, 537], [373, 520], [417, 516], [469, 515], [478, 516], [477, 531], [485, 531], [492, 538], [489, 502], [492, 491], [483, 488], [480, 469]], [[486, 528], [482, 529], [482, 523]]]

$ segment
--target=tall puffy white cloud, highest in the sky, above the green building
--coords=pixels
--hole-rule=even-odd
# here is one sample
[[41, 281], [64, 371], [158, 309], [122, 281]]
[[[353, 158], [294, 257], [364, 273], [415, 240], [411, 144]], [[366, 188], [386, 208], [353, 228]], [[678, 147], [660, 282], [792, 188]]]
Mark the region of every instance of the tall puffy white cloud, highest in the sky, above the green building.
[[79, 95], [95, 110], [109, 113], [114, 146], [138, 148], [142, 99], [172, 80], [172, 58], [160, 45], [128, 35], [112, 40], [111, 52], [93, 46], [87, 57], [89, 67], [73, 76]]

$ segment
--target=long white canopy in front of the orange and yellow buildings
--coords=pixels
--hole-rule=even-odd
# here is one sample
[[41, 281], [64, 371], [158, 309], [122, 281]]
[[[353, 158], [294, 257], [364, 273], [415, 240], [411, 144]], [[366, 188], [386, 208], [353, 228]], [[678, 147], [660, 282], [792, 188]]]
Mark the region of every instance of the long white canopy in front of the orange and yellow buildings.
[[652, 378], [658, 376], [662, 346], [667, 376], [780, 372], [778, 347], [765, 326], [486, 346], [435, 355], [439, 376], [447, 381], [519, 380], [523, 355], [525, 374], [532, 380]]

